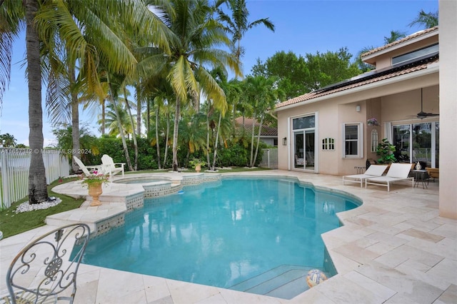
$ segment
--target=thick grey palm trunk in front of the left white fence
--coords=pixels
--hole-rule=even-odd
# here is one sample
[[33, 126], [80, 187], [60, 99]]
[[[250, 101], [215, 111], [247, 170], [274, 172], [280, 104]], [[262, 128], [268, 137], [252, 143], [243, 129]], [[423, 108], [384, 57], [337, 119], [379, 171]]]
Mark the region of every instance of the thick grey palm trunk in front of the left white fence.
[[43, 156], [43, 109], [41, 108], [40, 41], [34, 28], [38, 1], [25, 0], [26, 53], [29, 80], [29, 145], [32, 151], [29, 169], [29, 203], [42, 203], [48, 199], [46, 171]]

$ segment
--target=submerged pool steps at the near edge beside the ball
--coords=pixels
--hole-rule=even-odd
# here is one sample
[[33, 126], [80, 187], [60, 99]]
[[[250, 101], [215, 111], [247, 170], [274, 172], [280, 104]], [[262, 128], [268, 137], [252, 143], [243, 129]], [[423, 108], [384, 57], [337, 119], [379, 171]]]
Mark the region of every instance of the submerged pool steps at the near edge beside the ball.
[[306, 275], [311, 269], [314, 268], [298, 265], [280, 265], [233, 285], [229, 289], [291, 299], [309, 289], [308, 284], [306, 284]]

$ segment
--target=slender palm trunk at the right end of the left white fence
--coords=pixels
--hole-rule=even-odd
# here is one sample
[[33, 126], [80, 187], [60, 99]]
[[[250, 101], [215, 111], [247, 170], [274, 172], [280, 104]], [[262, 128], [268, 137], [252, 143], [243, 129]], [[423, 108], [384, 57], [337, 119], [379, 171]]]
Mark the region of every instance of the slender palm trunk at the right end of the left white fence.
[[[81, 158], [80, 146], [79, 146], [79, 100], [78, 93], [73, 89], [75, 79], [74, 62], [69, 63], [69, 84], [71, 88], [71, 138], [73, 142], [73, 156]], [[79, 170], [78, 164], [71, 158], [71, 171], [76, 172]]]

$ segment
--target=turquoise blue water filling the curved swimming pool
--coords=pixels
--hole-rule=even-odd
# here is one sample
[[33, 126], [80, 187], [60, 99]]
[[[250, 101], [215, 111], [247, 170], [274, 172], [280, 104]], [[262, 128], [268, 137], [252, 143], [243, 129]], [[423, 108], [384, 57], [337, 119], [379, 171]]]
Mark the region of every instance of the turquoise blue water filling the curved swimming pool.
[[284, 179], [184, 187], [146, 199], [125, 226], [91, 240], [83, 263], [256, 293], [256, 280], [280, 280], [278, 273], [335, 274], [321, 233], [340, 226], [335, 213], [358, 205]]

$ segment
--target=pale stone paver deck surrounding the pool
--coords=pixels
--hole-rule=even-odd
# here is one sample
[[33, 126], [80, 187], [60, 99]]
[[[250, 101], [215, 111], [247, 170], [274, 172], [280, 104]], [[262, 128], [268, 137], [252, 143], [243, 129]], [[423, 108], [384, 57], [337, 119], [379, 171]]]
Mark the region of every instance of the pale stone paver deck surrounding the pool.
[[[438, 216], [437, 182], [426, 189], [398, 183], [387, 192], [378, 186], [343, 186], [341, 176], [279, 170], [233, 173], [241, 174], [295, 176], [363, 200], [362, 206], [338, 213], [344, 226], [322, 235], [337, 275], [284, 300], [81, 264], [75, 303], [457, 303], [457, 220]], [[110, 209], [79, 208], [66, 218], [78, 218], [84, 210], [84, 216], [94, 220]], [[53, 228], [46, 225], [0, 240], [2, 294], [12, 258]]]

